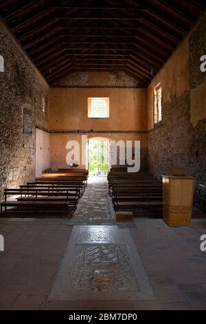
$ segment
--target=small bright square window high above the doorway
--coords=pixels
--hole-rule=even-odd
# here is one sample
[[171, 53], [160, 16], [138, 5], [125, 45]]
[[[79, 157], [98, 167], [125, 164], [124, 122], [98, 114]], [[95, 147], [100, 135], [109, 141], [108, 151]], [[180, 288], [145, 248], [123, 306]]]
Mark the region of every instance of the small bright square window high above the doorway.
[[109, 98], [88, 98], [89, 118], [109, 117]]

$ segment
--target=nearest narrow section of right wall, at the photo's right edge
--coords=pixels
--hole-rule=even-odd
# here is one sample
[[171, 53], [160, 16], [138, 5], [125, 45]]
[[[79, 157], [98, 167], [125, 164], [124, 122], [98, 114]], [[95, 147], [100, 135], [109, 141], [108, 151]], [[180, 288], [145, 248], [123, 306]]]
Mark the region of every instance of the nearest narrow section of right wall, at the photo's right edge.
[[[205, 92], [198, 92], [199, 88], [206, 91], [206, 72], [200, 70], [200, 57], [206, 55], [206, 14], [201, 23], [190, 35], [190, 97], [194, 92], [201, 101], [203, 116], [195, 127], [190, 123], [190, 170], [196, 176], [196, 182], [206, 184], [206, 100]], [[202, 100], [203, 99], [203, 100]], [[194, 108], [196, 103], [194, 102]], [[194, 110], [193, 108], [193, 110]], [[191, 112], [191, 109], [190, 109]]]

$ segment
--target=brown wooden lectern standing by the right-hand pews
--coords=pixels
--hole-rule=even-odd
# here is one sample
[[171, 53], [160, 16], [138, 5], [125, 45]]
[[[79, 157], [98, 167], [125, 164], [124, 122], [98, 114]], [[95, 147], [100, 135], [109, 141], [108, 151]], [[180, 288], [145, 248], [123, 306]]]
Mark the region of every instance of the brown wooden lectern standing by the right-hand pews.
[[169, 167], [163, 176], [163, 220], [170, 226], [189, 225], [192, 216], [194, 177], [186, 168]]

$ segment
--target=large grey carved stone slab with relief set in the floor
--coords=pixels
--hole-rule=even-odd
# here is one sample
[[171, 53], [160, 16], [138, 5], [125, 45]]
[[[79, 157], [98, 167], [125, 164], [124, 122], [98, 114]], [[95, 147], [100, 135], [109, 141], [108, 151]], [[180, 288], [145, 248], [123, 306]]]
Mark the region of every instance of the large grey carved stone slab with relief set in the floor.
[[49, 301], [154, 299], [126, 228], [74, 226]]

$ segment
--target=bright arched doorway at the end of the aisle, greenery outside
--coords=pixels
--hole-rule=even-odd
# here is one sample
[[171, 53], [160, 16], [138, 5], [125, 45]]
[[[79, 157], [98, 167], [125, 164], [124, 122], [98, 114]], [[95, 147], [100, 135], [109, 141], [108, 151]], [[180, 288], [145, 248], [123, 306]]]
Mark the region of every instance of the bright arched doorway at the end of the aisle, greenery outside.
[[89, 176], [106, 176], [109, 165], [109, 140], [94, 137], [88, 143]]

